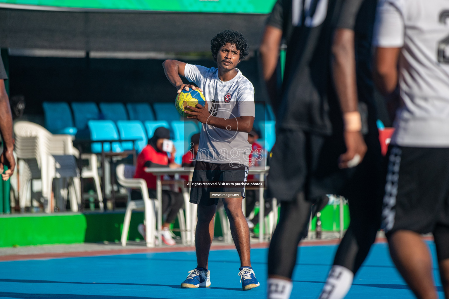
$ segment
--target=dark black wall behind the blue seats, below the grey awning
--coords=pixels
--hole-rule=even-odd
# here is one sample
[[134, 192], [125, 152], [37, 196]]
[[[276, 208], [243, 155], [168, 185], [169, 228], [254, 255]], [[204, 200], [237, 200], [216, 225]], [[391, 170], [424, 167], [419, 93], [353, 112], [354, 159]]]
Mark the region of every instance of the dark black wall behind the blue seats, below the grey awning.
[[[44, 101], [170, 102], [176, 89], [165, 78], [163, 60], [9, 57], [10, 95], [24, 95], [26, 114], [43, 114]], [[207, 67], [213, 60], [186, 61]], [[257, 59], [238, 68], [264, 100]]]

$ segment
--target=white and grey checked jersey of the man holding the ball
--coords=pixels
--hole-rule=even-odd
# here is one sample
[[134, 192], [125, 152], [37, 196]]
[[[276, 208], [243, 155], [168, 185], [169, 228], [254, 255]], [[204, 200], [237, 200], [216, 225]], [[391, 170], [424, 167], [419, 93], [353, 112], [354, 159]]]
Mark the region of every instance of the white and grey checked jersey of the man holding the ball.
[[[185, 65], [184, 74], [202, 89], [211, 115], [225, 119], [255, 117], [254, 87], [236, 70], [238, 74], [226, 82], [218, 78], [218, 69], [201, 65]], [[197, 160], [248, 165], [250, 153], [248, 133], [202, 124]]]

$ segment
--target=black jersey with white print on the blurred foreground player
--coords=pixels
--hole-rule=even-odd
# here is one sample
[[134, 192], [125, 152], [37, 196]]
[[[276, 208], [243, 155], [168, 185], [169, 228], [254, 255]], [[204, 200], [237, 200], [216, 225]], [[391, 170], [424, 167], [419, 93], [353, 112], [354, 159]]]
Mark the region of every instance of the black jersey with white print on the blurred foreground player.
[[[332, 134], [341, 111], [331, 74], [336, 28], [355, 32], [357, 90], [370, 118], [375, 116], [371, 39], [377, 0], [278, 0], [267, 25], [282, 30], [287, 45], [277, 126]], [[365, 115], [366, 117], [366, 115]], [[362, 121], [364, 116], [362, 115]], [[375, 117], [374, 117], [375, 118]]]

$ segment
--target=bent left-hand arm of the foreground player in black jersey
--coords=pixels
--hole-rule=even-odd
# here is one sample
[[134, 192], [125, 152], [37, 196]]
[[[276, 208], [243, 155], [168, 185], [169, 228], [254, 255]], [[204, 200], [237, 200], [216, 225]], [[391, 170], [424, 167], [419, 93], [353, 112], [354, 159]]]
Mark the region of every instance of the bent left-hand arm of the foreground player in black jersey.
[[259, 48], [260, 64], [262, 66], [262, 74], [267, 86], [268, 95], [273, 104], [278, 100], [276, 66], [279, 58], [281, 40], [281, 29], [270, 25], [265, 26]]

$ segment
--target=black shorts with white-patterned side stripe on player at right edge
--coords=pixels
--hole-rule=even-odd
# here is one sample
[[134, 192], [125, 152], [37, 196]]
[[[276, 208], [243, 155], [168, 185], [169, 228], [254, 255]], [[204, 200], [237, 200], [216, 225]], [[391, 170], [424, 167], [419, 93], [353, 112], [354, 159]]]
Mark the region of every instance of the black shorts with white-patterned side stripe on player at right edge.
[[418, 234], [449, 225], [449, 148], [388, 149], [382, 227]]

